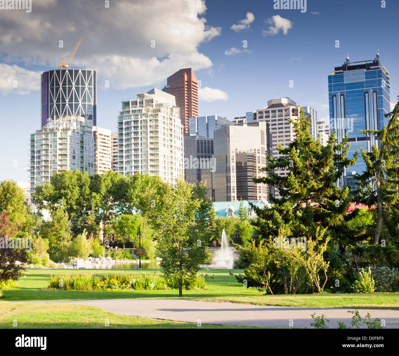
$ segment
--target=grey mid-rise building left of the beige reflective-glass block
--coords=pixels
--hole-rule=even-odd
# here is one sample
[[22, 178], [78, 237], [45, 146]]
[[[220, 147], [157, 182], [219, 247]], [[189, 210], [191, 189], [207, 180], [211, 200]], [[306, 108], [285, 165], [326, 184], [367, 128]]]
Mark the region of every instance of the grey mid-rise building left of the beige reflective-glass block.
[[208, 189], [207, 198], [213, 199], [212, 185], [213, 138], [199, 135], [184, 135], [184, 179], [188, 183], [204, 182]]

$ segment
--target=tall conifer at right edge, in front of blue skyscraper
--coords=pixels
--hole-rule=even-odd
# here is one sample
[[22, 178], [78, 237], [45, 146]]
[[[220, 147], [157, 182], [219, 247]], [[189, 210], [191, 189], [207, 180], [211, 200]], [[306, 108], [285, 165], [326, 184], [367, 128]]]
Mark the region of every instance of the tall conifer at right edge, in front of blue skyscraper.
[[399, 204], [399, 102], [385, 117], [390, 120], [381, 130], [361, 130], [363, 134], [378, 138], [379, 148], [372, 145], [371, 152], [361, 149], [366, 171], [355, 176], [359, 181], [358, 201], [369, 208], [376, 207], [375, 245], [379, 244], [383, 224], [389, 223], [393, 208]]

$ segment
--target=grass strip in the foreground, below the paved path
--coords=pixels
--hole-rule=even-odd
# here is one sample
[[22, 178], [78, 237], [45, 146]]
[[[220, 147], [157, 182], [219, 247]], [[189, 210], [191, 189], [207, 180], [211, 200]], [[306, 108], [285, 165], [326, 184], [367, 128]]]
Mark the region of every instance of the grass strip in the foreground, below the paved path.
[[[16, 324], [15, 324], [16, 323]], [[44, 305], [0, 301], [0, 328], [34, 329], [245, 329], [250, 326], [183, 323], [142, 317], [130, 317], [86, 305]]]

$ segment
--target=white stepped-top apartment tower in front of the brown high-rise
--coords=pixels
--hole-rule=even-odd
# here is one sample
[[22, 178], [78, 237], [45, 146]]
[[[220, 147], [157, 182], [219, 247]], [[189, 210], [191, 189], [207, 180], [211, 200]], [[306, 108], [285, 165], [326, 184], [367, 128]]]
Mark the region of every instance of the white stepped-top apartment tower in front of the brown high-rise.
[[183, 126], [173, 95], [152, 89], [122, 101], [117, 129], [118, 172], [158, 175], [171, 184], [184, 175]]

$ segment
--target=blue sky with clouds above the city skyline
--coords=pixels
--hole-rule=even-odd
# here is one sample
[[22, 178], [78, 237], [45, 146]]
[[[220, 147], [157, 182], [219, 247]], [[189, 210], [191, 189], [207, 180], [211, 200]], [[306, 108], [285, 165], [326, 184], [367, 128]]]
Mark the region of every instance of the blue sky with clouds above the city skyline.
[[201, 85], [199, 116], [232, 119], [289, 97], [328, 120], [330, 72], [348, 53], [355, 62], [374, 59], [378, 50], [390, 74], [390, 101], [397, 102], [399, 1], [307, 0], [306, 12], [276, 6], [273, 0], [32, 0], [30, 12], [0, 7], [0, 180], [29, 181], [40, 75], [59, 68], [81, 37], [69, 68], [97, 71], [97, 126], [113, 132], [121, 100], [162, 89], [169, 75], [188, 67]]

